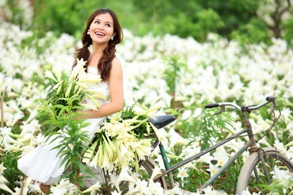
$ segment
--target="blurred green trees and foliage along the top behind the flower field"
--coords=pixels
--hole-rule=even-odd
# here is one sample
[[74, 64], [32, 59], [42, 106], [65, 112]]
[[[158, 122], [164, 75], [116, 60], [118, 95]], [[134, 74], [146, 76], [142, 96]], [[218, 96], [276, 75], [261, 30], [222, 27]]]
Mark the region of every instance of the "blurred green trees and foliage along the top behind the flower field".
[[[11, 22], [21, 26], [16, 5], [24, 0], [7, 1]], [[110, 8], [122, 28], [136, 36], [166, 33], [204, 42], [207, 34], [217, 33], [240, 43], [270, 44], [272, 37], [293, 38], [291, 0], [30, 0], [33, 21], [28, 28], [37, 36], [53, 31], [80, 38], [89, 15], [99, 8]]]

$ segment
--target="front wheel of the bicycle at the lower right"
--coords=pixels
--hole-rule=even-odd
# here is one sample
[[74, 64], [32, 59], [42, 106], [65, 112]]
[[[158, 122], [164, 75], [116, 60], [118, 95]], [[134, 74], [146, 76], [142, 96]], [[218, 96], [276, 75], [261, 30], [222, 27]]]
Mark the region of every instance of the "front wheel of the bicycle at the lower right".
[[[272, 181], [273, 176], [273, 174], [270, 173], [275, 170], [275, 166], [279, 170], [293, 172], [292, 162], [290, 162], [290, 160], [284, 155], [276, 151], [266, 151], [266, 155], [268, 158], [265, 158], [265, 164], [269, 173], [270, 181]], [[257, 174], [255, 174], [255, 172]], [[248, 189], [250, 192], [262, 191], [265, 193], [266, 191], [261, 188], [262, 184], [269, 184], [269, 182], [258, 153], [253, 153], [241, 168], [237, 182], [237, 194], [242, 194], [242, 191], [246, 190], [247, 187], [249, 187]]]

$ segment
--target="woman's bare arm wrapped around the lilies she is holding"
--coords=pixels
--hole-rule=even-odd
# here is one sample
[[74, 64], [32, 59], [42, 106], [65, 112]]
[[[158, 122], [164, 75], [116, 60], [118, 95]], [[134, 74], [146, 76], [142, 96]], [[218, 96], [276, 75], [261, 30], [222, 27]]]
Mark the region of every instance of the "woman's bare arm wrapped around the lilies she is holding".
[[112, 68], [109, 78], [109, 89], [111, 98], [110, 103], [102, 105], [100, 108], [97, 108], [98, 111], [79, 111], [79, 113], [85, 114], [79, 116], [79, 118], [99, 118], [114, 114], [115, 112], [122, 110], [124, 102], [123, 73], [121, 63], [116, 58], [114, 58], [112, 61]]

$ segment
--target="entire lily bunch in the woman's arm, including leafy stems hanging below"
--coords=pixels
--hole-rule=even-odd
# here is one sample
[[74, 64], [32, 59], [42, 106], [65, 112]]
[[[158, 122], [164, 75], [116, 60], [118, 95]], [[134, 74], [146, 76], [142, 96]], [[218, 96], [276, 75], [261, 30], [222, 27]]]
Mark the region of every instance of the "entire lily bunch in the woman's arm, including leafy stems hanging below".
[[[88, 170], [81, 163], [81, 154], [90, 149], [86, 143], [90, 140], [84, 131], [80, 131], [88, 124], [84, 119], [78, 118], [80, 113], [76, 110], [92, 109], [100, 107], [99, 101], [108, 100], [105, 88], [91, 89], [92, 85], [101, 83], [99, 75], [85, 72], [86, 61], [78, 60], [69, 78], [62, 79], [62, 72], [58, 67], [51, 71], [45, 71], [45, 77], [51, 79], [52, 89], [48, 100], [40, 100], [38, 116], [44, 118], [43, 124], [51, 126], [44, 132], [47, 142], [54, 144], [53, 149], [58, 149], [57, 156], [61, 157], [62, 163], [70, 170], [62, 177], [73, 179], [75, 183], [83, 185], [79, 172]], [[89, 103], [87, 103], [89, 102]]]

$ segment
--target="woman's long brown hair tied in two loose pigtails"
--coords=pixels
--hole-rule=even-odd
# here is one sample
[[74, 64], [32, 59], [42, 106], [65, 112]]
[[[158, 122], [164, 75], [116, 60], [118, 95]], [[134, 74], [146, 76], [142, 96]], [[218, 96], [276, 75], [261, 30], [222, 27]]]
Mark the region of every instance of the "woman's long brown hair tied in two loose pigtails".
[[[83, 46], [80, 49], [76, 49], [77, 51], [76, 58], [78, 59], [83, 58], [84, 60], [88, 60], [90, 55], [90, 51], [88, 50], [88, 47], [92, 44], [92, 39], [87, 34], [87, 30], [89, 29], [89, 26], [91, 25], [93, 19], [96, 16], [100, 14], [106, 14], [106, 13], [109, 13], [113, 18], [114, 32], [116, 32], [116, 35], [114, 36], [113, 40], [109, 40], [108, 46], [104, 49], [103, 55], [100, 58], [99, 62], [97, 63], [97, 69], [99, 70], [99, 73], [101, 74], [101, 79], [103, 81], [109, 80], [110, 71], [112, 68], [112, 60], [115, 58], [115, 52], [116, 52], [115, 46], [118, 43], [120, 43], [123, 39], [122, 29], [116, 14], [109, 8], [103, 8], [103, 9], [94, 11], [88, 18], [86, 28], [84, 29], [82, 33], [81, 41]], [[72, 68], [75, 67], [77, 64], [76, 58], [73, 62]], [[87, 64], [85, 65], [85, 68], [86, 67], [87, 67]]]

